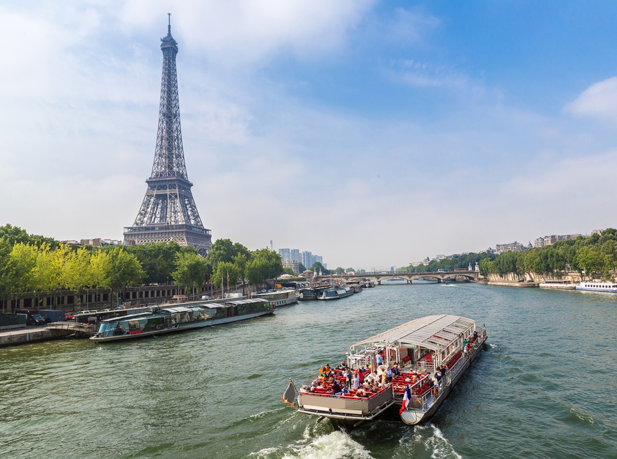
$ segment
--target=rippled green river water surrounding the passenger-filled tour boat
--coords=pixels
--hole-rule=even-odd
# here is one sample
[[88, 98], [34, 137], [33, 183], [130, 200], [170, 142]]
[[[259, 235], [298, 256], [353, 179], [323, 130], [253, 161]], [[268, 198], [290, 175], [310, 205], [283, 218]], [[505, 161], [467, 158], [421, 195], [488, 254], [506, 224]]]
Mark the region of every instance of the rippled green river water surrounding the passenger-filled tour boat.
[[[352, 432], [281, 402], [349, 345], [424, 315], [486, 324], [428, 424]], [[617, 296], [394, 285], [158, 338], [0, 349], [2, 458], [615, 458]]]

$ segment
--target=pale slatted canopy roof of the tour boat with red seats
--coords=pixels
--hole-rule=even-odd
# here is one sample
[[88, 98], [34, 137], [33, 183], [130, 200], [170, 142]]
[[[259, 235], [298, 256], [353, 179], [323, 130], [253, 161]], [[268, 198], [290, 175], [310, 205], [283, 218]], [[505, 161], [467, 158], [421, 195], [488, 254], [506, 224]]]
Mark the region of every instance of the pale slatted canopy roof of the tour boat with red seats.
[[439, 350], [452, 344], [463, 332], [475, 325], [475, 321], [455, 315], [425, 316], [357, 342], [351, 349], [354, 352], [358, 347], [395, 344], [401, 347], [414, 345]]

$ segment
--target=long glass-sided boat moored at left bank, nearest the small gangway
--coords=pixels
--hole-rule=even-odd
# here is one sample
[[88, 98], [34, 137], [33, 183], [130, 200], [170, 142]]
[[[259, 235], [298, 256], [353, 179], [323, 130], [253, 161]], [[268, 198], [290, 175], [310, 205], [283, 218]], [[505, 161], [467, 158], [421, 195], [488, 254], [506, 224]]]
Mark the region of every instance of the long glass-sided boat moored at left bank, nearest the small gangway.
[[90, 339], [96, 343], [160, 335], [193, 328], [251, 319], [271, 314], [274, 307], [264, 299], [242, 299], [206, 304], [181, 304], [151, 308], [147, 312], [101, 321]]

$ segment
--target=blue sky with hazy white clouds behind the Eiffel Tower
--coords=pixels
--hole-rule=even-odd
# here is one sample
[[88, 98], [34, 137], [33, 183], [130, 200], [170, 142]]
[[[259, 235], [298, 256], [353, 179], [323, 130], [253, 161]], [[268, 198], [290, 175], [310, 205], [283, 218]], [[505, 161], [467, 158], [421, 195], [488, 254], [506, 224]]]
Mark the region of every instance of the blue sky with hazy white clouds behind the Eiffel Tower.
[[0, 4], [2, 224], [122, 238], [167, 12], [213, 239], [370, 269], [616, 225], [617, 4], [369, 0]]

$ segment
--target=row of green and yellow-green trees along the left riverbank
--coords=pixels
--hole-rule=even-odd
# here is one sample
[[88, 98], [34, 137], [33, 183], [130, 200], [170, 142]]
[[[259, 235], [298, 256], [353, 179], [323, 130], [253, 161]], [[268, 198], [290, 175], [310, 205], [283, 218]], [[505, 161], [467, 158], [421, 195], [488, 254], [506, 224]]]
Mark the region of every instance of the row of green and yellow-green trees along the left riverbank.
[[283, 272], [273, 250], [248, 250], [230, 239], [218, 239], [207, 257], [175, 242], [139, 246], [73, 246], [28, 234], [19, 226], [0, 226], [0, 296], [18, 292], [119, 291], [142, 284], [201, 287], [212, 281], [236, 286], [260, 285]]

